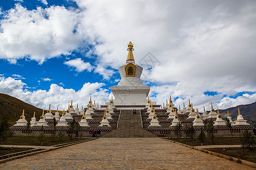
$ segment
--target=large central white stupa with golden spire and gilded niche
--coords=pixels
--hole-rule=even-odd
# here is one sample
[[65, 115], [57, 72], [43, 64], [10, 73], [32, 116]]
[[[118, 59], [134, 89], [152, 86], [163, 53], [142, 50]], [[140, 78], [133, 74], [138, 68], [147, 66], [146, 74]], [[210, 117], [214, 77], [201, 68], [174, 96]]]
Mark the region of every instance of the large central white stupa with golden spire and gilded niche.
[[119, 67], [121, 80], [111, 90], [115, 96], [115, 105], [145, 105], [150, 86], [145, 86], [141, 80], [143, 68], [134, 61], [133, 43], [129, 42], [126, 63]]

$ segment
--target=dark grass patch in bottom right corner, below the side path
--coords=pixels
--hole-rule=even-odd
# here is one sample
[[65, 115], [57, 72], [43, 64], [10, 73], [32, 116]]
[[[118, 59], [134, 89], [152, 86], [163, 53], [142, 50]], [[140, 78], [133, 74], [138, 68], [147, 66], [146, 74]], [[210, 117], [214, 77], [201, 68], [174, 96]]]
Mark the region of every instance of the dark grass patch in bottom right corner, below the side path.
[[[228, 156], [232, 156], [234, 158], [237, 158], [238, 160], [241, 159], [243, 160], [247, 160], [250, 162], [254, 162], [256, 163], [256, 152], [255, 150], [249, 150], [249, 149], [243, 149], [243, 148], [225, 148], [225, 150], [223, 150], [223, 148], [207, 148], [207, 150], [209, 151], [213, 151], [213, 152], [217, 152], [219, 154], [223, 154], [223, 155], [228, 155]], [[233, 158], [229, 158], [229, 160], [233, 160]]]

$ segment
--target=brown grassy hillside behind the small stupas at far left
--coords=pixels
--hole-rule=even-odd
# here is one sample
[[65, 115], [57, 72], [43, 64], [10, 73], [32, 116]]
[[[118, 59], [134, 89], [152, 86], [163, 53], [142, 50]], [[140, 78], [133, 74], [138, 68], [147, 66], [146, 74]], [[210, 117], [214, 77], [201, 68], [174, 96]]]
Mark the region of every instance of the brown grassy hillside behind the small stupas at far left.
[[22, 115], [22, 111], [25, 109], [26, 120], [31, 120], [34, 112], [36, 112], [36, 120], [39, 120], [39, 117], [42, 115], [43, 110], [40, 108], [34, 107], [34, 105], [25, 103], [22, 100], [16, 99], [15, 97], [0, 94], [0, 117], [3, 114], [8, 114], [10, 116], [10, 122], [15, 124], [18, 121], [19, 117]]

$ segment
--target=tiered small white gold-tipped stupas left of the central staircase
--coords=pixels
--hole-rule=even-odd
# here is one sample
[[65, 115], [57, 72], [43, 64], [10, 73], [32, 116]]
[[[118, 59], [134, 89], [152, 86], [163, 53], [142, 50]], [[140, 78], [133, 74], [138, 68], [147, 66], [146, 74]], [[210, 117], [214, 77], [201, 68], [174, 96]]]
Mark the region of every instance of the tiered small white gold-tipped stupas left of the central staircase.
[[[105, 110], [104, 116], [103, 116], [102, 121], [100, 122], [99, 126], [110, 126], [109, 120], [113, 120], [113, 118], [112, 118], [112, 114], [114, 114], [113, 108], [115, 108], [115, 106], [114, 106], [113, 98], [112, 98], [112, 100], [110, 100], [110, 102], [109, 102], [107, 109]], [[94, 109], [98, 109], [98, 107], [96, 107], [95, 101], [94, 101], [94, 105], [92, 105], [92, 98], [90, 98], [90, 101], [89, 101], [86, 111], [85, 111], [85, 109], [82, 109], [82, 112], [83, 112], [82, 118], [81, 118], [81, 121], [79, 122], [79, 125], [81, 126], [81, 128], [89, 127], [88, 121], [86, 121], [86, 120], [93, 120], [92, 114], [94, 114]], [[43, 111], [42, 116], [40, 116], [39, 121], [36, 121], [35, 112], [34, 112], [34, 117], [31, 118], [30, 126], [32, 128], [41, 128], [42, 126], [44, 128], [49, 128], [49, 125], [47, 124], [48, 121], [53, 121], [53, 118], [55, 118], [55, 120], [57, 122], [56, 128], [67, 128], [68, 121], [73, 120], [71, 113], [73, 113], [73, 115], [81, 114], [81, 112], [79, 112], [79, 109], [78, 109], [78, 104], [77, 104], [76, 109], [73, 108], [72, 100], [71, 100], [71, 105], [68, 105], [67, 112], [65, 112], [65, 110], [63, 110], [63, 114], [61, 117], [59, 116], [58, 108], [57, 108], [57, 111], [55, 112], [55, 115], [53, 116], [53, 114], [51, 113], [51, 104], [50, 104], [49, 109], [47, 110], [47, 113], [44, 114], [44, 111]], [[22, 116], [20, 116], [19, 120], [16, 121], [16, 124], [14, 126], [26, 127], [27, 123], [28, 122], [25, 119], [24, 109], [23, 109]]]

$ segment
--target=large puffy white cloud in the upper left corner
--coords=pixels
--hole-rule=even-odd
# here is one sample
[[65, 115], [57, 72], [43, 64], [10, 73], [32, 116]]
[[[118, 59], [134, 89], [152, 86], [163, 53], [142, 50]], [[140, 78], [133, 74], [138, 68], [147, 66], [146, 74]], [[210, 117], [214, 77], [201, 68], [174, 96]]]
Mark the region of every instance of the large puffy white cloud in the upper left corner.
[[79, 17], [72, 8], [27, 10], [16, 4], [1, 20], [0, 58], [15, 63], [27, 57], [42, 63], [47, 58], [70, 54], [85, 39], [75, 31]]

